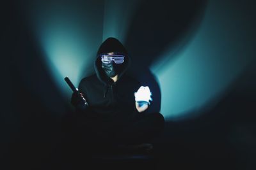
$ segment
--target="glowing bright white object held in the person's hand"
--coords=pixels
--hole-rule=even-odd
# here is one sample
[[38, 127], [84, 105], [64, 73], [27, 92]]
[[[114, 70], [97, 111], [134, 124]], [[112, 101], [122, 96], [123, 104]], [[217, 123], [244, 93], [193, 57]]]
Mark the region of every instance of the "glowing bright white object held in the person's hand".
[[152, 93], [148, 86], [141, 86], [137, 92], [134, 92], [134, 96], [136, 102], [147, 102], [150, 104], [149, 101], [152, 101]]

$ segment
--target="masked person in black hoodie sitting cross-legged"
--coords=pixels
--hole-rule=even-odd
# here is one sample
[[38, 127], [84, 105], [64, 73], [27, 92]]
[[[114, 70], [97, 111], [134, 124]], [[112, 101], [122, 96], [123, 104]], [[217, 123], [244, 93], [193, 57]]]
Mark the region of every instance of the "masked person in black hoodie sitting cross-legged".
[[101, 146], [125, 145], [150, 150], [151, 139], [163, 130], [160, 113], [147, 113], [150, 101], [135, 101], [138, 81], [127, 76], [131, 59], [115, 38], [100, 45], [95, 60], [95, 74], [79, 83], [80, 95], [73, 94], [76, 108], [77, 140]]

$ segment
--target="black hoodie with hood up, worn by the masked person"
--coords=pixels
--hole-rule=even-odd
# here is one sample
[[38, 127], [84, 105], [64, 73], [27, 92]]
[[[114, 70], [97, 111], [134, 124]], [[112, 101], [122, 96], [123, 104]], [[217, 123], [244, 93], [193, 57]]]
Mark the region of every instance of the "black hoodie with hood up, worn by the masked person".
[[[119, 52], [125, 55], [124, 67], [114, 82], [102, 69], [101, 53]], [[135, 108], [134, 92], [140, 83], [125, 73], [131, 59], [125, 47], [115, 38], [108, 38], [100, 45], [95, 60], [95, 73], [83, 78], [79, 83], [79, 91], [83, 94], [88, 107], [83, 114], [100, 119], [111, 118], [120, 124], [131, 121], [138, 114]]]

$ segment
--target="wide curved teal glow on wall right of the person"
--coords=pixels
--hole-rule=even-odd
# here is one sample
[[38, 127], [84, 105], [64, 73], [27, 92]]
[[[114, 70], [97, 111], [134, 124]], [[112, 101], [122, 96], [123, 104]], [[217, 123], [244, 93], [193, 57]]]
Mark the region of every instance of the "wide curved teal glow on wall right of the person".
[[[253, 59], [250, 32], [244, 31], [250, 22], [230, 15], [243, 15], [239, 8], [209, 1], [204, 20], [189, 44], [178, 53], [164, 53], [162, 60], [151, 66], [161, 87], [164, 117], [195, 117], [210, 109]], [[175, 59], [168, 60], [173, 55]]]

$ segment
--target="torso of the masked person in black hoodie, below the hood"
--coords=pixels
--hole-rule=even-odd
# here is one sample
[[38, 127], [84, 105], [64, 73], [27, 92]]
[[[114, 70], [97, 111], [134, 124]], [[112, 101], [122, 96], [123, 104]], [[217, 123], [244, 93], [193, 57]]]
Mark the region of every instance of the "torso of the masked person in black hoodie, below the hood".
[[91, 110], [102, 117], [133, 114], [134, 92], [138, 90], [138, 81], [123, 76], [116, 83], [102, 83], [96, 75], [84, 78], [79, 84]]

